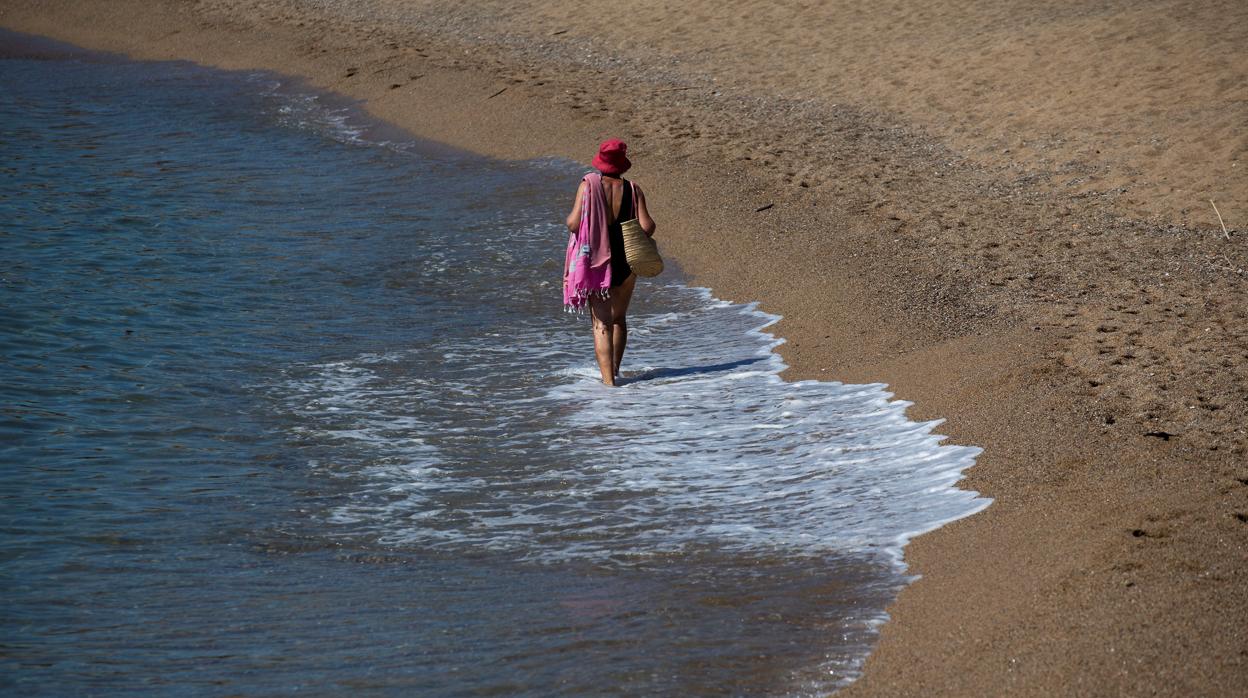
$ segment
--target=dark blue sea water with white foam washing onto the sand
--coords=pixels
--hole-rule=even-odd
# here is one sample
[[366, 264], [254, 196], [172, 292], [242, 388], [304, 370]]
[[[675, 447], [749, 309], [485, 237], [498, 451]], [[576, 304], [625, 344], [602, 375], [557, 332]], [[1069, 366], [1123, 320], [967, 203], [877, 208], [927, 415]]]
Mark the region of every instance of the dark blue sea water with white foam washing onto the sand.
[[826, 693], [986, 504], [675, 275], [599, 385], [575, 164], [0, 39], [6, 693]]

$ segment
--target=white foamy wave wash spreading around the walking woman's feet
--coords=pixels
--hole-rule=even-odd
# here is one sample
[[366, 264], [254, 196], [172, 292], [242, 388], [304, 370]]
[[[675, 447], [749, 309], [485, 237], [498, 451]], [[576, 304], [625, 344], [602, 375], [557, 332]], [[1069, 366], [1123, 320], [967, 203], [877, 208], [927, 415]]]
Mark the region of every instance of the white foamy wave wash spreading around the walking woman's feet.
[[[349, 442], [339, 462], [362, 482], [328, 521], [547, 562], [713, 548], [900, 563], [912, 536], [988, 503], [955, 486], [978, 450], [941, 445], [885, 386], [785, 382], [776, 316], [661, 288], [681, 311], [633, 320], [615, 390], [582, 327], [490, 356], [448, 346], [437, 368], [428, 348], [303, 367], [292, 410], [322, 443]], [[584, 352], [544, 361], [560, 341]], [[532, 381], [497, 386], [513, 372]]]

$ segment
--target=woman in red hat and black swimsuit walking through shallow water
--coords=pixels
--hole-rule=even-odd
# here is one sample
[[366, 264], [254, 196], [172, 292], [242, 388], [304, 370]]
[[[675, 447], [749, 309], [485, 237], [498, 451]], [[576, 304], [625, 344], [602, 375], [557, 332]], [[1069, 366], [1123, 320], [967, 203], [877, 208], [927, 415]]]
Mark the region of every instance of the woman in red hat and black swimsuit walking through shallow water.
[[655, 226], [641, 189], [622, 177], [633, 166], [624, 141], [603, 141], [593, 166], [597, 172], [582, 177], [577, 201], [568, 214], [572, 238], [564, 258], [563, 301], [569, 308], [589, 306], [598, 370], [603, 382], [614, 386], [628, 343], [624, 316], [636, 283], [636, 275], [624, 258], [620, 222], [636, 219], [651, 237]]

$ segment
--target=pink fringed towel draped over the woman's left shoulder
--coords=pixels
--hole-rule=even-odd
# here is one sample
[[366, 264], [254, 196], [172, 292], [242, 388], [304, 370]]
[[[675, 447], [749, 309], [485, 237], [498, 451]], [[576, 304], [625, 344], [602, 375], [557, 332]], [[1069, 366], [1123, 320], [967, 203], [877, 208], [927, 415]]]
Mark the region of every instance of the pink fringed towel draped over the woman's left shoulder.
[[610, 209], [603, 196], [603, 176], [585, 175], [585, 199], [580, 205], [580, 230], [568, 238], [563, 267], [565, 310], [585, 307], [592, 295], [605, 298], [612, 287], [612, 243], [607, 233]]

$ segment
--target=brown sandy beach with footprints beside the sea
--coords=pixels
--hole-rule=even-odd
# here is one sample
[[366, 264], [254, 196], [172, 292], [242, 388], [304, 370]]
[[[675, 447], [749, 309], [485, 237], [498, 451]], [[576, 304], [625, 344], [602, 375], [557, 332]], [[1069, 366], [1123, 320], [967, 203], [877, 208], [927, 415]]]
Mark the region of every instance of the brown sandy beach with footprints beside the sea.
[[845, 694], [1248, 686], [1248, 5], [0, 0], [0, 26], [301, 76], [504, 159], [629, 141], [664, 252], [782, 315], [789, 377], [887, 382], [983, 448], [963, 483], [995, 503], [907, 547]]

